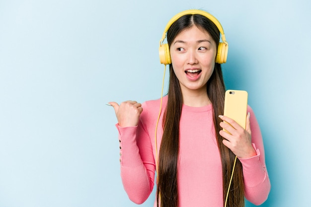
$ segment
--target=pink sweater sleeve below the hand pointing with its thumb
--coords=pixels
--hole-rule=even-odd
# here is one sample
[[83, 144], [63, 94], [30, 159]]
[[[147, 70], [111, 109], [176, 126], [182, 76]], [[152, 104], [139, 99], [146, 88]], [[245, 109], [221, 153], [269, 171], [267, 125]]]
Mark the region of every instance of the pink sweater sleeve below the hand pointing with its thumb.
[[136, 127], [120, 127], [118, 124], [116, 127], [119, 132], [123, 187], [131, 201], [142, 204], [154, 188], [155, 160], [149, 134], [142, 119]]

